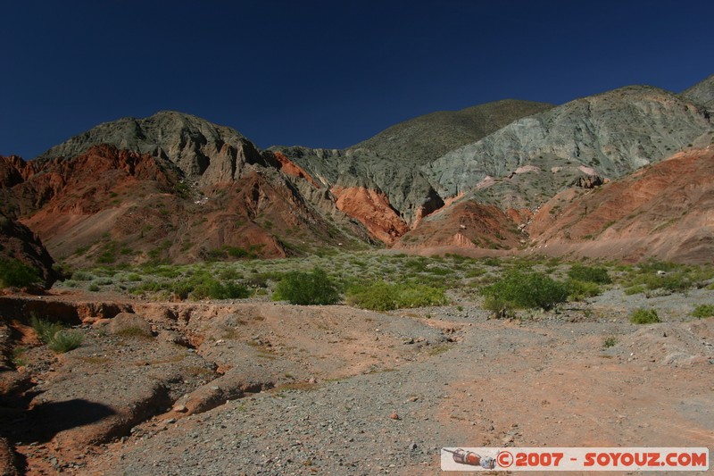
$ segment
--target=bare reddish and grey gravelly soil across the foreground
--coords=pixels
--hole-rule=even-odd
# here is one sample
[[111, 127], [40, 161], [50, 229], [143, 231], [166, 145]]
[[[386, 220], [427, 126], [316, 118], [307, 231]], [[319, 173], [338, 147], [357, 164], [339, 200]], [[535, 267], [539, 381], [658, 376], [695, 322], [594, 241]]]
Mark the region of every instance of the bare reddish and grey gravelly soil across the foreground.
[[[714, 446], [714, 319], [688, 316], [711, 290], [611, 290], [506, 321], [467, 301], [373, 313], [104, 297], [154, 336], [79, 315], [85, 342], [53, 355], [4, 315], [5, 344], [28, 347], [0, 374], [31, 377], [0, 414], [21, 472], [436, 474], [441, 447]], [[663, 322], [627, 321], [644, 300]]]

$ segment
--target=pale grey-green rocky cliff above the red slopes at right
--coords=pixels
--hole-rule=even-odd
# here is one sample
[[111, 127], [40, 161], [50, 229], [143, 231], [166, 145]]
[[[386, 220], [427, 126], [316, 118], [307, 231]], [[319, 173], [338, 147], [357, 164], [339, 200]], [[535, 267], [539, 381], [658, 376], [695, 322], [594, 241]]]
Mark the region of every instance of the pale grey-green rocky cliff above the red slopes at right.
[[508, 176], [535, 161], [585, 165], [615, 179], [691, 146], [710, 128], [700, 107], [668, 91], [619, 88], [514, 121], [422, 170], [441, 196], [468, 192], [486, 177]]

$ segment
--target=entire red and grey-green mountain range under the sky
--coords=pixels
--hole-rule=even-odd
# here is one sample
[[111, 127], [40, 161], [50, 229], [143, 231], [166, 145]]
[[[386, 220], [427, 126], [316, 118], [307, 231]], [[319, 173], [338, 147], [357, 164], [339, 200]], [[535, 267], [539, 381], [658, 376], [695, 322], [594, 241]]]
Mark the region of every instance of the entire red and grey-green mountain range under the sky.
[[77, 267], [375, 246], [701, 263], [712, 108], [714, 76], [431, 113], [342, 150], [260, 150], [185, 113], [123, 118], [0, 156], [0, 254], [24, 259], [7, 243], [28, 229]]

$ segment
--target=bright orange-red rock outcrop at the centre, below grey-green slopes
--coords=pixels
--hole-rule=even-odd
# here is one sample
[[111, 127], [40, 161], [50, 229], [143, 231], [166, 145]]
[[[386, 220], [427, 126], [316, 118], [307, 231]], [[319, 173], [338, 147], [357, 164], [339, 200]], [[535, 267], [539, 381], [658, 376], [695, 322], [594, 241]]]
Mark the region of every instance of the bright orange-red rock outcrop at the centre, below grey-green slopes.
[[331, 190], [339, 210], [367, 227], [367, 230], [386, 245], [409, 230], [409, 226], [394, 211], [385, 194], [364, 187], [339, 187]]

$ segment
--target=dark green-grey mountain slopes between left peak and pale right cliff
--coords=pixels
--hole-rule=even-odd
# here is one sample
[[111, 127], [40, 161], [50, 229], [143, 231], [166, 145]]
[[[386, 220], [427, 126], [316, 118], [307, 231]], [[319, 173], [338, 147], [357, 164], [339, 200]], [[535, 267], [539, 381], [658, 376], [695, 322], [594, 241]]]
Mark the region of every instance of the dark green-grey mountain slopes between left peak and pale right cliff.
[[516, 119], [541, 112], [552, 104], [504, 100], [462, 111], [419, 116], [380, 132], [345, 150], [272, 147], [298, 163], [327, 187], [377, 189], [411, 223], [444, 205], [419, 170], [453, 147], [486, 137]]

